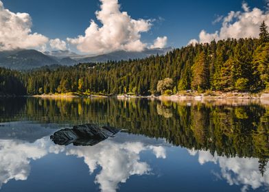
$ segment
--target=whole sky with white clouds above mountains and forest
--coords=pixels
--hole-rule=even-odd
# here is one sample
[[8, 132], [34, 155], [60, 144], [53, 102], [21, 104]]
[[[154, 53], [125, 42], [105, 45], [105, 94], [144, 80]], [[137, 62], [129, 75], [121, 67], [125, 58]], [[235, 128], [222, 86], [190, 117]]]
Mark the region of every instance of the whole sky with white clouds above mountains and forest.
[[0, 0], [0, 50], [116, 50], [182, 47], [257, 37], [269, 1]]

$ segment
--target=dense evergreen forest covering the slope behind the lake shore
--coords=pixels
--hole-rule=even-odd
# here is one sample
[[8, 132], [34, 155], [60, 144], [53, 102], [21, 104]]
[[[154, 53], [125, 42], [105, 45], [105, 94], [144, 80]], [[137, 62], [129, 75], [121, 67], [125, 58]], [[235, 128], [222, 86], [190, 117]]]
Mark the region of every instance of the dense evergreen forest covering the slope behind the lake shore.
[[43, 67], [18, 72], [0, 69], [0, 93], [40, 95], [160, 95], [179, 91], [261, 92], [269, 88], [269, 34], [188, 45], [164, 56]]

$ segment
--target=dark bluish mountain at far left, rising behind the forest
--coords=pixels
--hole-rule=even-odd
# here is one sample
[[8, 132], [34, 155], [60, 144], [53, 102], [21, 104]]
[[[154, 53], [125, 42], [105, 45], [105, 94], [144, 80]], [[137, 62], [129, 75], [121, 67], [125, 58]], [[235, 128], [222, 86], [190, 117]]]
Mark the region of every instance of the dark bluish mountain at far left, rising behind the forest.
[[9, 69], [28, 70], [45, 65], [60, 64], [60, 62], [54, 58], [46, 56], [34, 49], [24, 49], [11, 54], [2, 53], [0, 55], [2, 55], [0, 58], [0, 67]]

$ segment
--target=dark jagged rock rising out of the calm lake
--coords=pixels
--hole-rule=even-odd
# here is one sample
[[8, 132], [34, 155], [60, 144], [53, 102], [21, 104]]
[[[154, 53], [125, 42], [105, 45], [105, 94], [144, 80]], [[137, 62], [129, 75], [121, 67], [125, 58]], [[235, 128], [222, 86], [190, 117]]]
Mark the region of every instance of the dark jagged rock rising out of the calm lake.
[[58, 145], [96, 145], [109, 136], [117, 134], [117, 128], [99, 127], [93, 124], [75, 125], [73, 129], [62, 129], [50, 136]]

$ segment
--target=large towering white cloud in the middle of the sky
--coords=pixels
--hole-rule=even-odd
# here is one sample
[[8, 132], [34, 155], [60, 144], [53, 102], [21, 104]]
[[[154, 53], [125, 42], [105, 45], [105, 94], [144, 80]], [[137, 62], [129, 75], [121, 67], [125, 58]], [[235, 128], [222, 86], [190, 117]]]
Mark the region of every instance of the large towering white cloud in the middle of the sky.
[[[152, 20], [132, 19], [127, 12], [120, 11], [117, 0], [100, 0], [101, 10], [95, 12], [97, 25], [91, 20], [84, 36], [67, 38], [79, 51], [85, 53], [108, 53], [116, 50], [143, 51], [147, 47], [141, 42], [141, 33], [148, 32], [152, 27]], [[157, 38], [158, 39], [158, 38]], [[165, 45], [167, 37], [156, 41], [158, 46]]]

